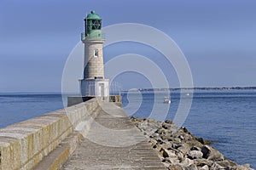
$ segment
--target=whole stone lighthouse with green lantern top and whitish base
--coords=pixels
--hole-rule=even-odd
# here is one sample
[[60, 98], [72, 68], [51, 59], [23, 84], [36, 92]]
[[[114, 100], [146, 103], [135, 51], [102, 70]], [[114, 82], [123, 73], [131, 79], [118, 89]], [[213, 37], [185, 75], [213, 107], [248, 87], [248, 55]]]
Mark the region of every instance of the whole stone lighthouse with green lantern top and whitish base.
[[85, 32], [81, 35], [84, 43], [84, 79], [80, 80], [82, 96], [108, 99], [109, 80], [104, 78], [102, 45], [105, 34], [102, 33], [102, 18], [91, 11], [84, 19]]

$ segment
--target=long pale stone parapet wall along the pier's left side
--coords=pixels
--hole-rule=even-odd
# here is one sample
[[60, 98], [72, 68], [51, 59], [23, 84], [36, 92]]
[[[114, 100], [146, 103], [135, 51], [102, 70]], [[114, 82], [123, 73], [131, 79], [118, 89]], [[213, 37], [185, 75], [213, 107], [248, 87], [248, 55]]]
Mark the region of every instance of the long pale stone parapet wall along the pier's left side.
[[[95, 114], [96, 99], [0, 129], [0, 170], [32, 169]], [[73, 149], [74, 150], [74, 149]], [[71, 150], [69, 150], [70, 152]], [[69, 153], [71, 154], [71, 153]]]

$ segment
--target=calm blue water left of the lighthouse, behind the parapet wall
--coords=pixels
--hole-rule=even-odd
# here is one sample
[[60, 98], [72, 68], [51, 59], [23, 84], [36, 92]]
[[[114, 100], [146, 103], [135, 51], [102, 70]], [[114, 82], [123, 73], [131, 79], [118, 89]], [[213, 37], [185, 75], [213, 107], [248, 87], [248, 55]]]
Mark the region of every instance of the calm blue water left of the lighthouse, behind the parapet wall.
[[0, 127], [61, 108], [61, 94], [0, 94]]

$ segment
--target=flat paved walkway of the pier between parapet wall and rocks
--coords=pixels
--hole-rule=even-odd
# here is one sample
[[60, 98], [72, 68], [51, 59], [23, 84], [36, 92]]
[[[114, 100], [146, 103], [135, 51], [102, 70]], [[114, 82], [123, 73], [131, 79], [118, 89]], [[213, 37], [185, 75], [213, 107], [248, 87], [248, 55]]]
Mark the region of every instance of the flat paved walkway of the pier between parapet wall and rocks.
[[112, 103], [102, 103], [101, 107], [63, 170], [166, 169], [121, 107]]

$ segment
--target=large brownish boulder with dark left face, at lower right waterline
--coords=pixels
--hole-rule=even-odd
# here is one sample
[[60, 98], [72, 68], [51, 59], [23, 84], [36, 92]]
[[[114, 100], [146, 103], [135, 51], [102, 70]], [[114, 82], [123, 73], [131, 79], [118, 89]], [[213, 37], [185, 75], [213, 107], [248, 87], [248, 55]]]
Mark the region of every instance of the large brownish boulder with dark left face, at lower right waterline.
[[218, 151], [212, 148], [211, 146], [205, 145], [201, 148], [203, 153], [203, 158], [212, 161], [224, 161], [224, 156]]

